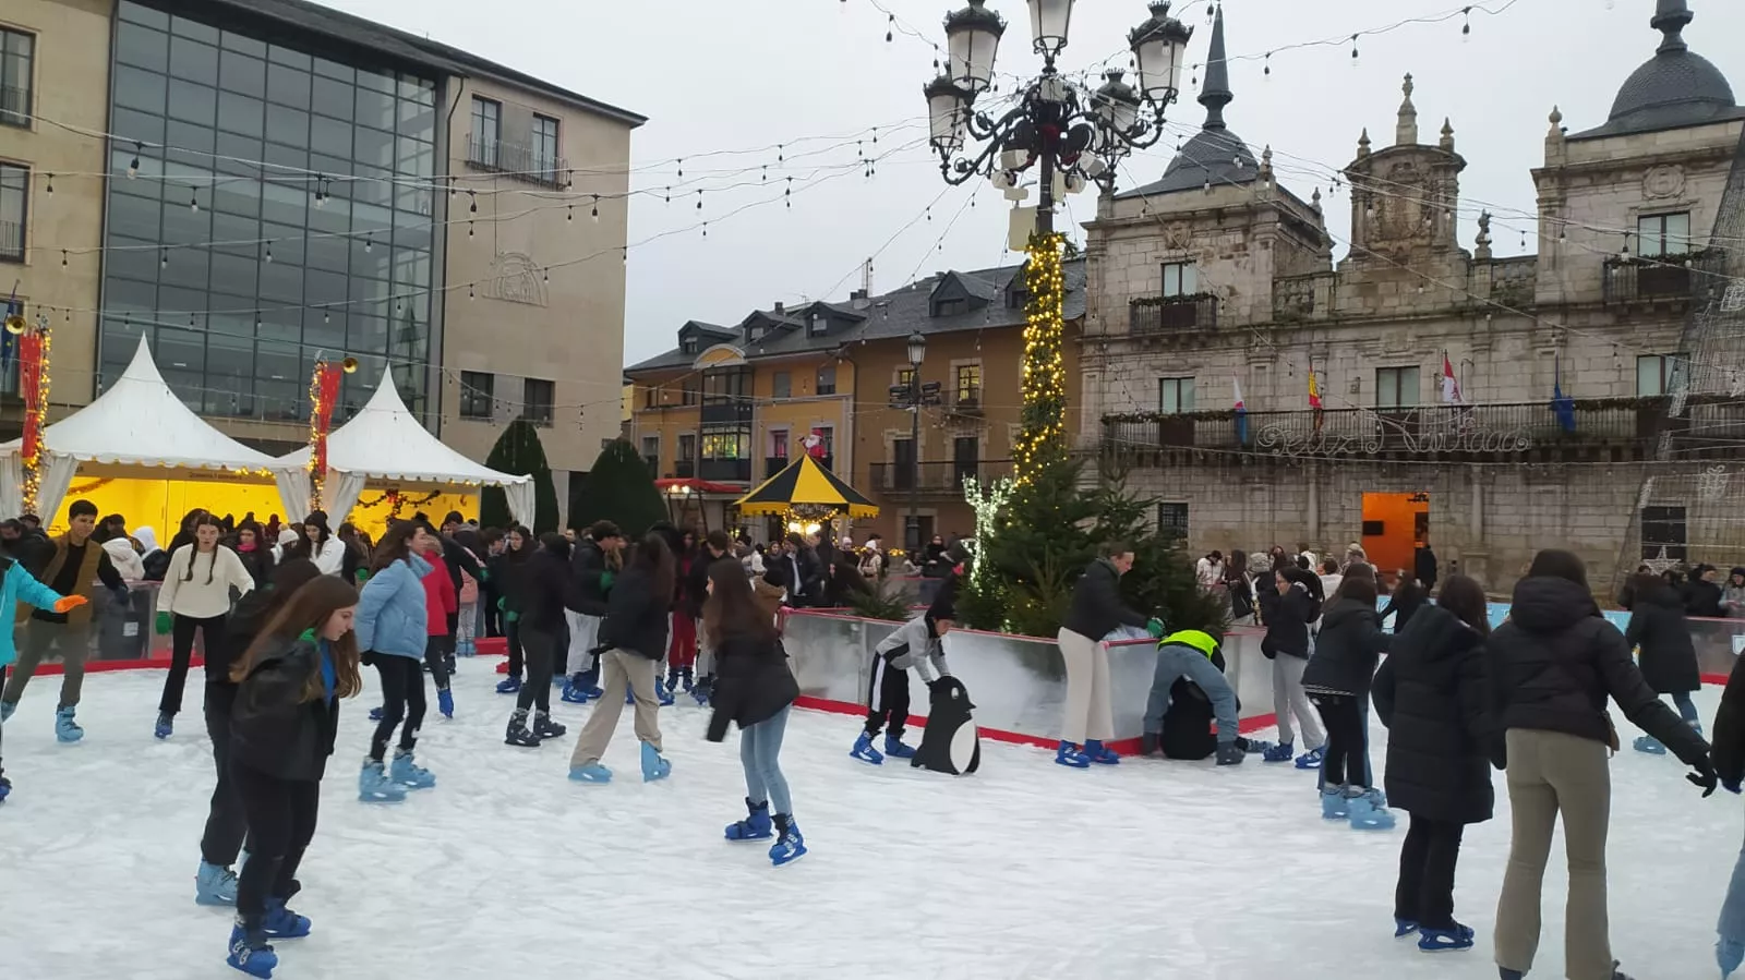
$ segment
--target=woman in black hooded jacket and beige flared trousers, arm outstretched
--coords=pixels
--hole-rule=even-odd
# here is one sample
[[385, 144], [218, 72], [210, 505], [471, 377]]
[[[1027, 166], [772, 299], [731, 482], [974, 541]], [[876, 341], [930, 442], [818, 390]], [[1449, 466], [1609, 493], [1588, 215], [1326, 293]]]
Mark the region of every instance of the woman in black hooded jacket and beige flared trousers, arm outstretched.
[[1497, 902], [1495, 959], [1502, 980], [1522, 980], [1539, 952], [1539, 891], [1551, 834], [1564, 820], [1569, 909], [1564, 973], [1569, 980], [1630, 980], [1607, 936], [1605, 832], [1611, 821], [1609, 752], [1618, 748], [1605, 701], [1689, 767], [1703, 795], [1715, 792], [1708, 743], [1642, 680], [1616, 626], [1600, 617], [1581, 558], [1541, 551], [1515, 586], [1509, 619], [1490, 635], [1490, 699], [1508, 771], [1513, 837]]

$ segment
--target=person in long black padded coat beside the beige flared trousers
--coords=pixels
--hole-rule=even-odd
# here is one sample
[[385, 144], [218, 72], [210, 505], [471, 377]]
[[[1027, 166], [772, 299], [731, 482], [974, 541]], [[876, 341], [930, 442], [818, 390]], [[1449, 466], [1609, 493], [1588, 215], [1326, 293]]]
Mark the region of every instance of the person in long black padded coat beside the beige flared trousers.
[[1419, 949], [1471, 949], [1454, 921], [1454, 867], [1468, 823], [1490, 820], [1490, 724], [1485, 711], [1485, 589], [1466, 575], [1441, 586], [1394, 633], [1375, 673], [1375, 713], [1387, 725], [1387, 800], [1412, 814], [1399, 846], [1394, 936], [1419, 931]]

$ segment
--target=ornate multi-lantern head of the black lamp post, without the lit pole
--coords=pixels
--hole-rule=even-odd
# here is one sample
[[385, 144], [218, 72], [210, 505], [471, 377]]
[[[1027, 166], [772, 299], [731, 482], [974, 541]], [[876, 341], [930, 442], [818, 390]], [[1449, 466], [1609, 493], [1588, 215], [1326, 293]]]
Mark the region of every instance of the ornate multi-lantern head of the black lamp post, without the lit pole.
[[[1169, 0], [1155, 0], [1150, 19], [1127, 35], [1139, 68], [1138, 89], [1122, 80], [1124, 71], [1108, 71], [1101, 87], [1084, 91], [1054, 66], [1066, 47], [1075, 0], [1028, 2], [1033, 47], [1044, 65], [1016, 108], [998, 119], [975, 112], [975, 99], [993, 82], [995, 52], [1005, 35], [1005, 19], [986, 7], [988, 0], [968, 0], [946, 17], [948, 66], [923, 92], [946, 183], [986, 176], [1010, 190], [1021, 173], [1037, 166], [1037, 232], [1050, 235], [1056, 173], [1068, 190], [1096, 181], [1113, 192], [1120, 159], [1162, 140], [1164, 110], [1180, 94], [1194, 30], [1169, 16]], [[965, 136], [981, 148], [967, 150]]]

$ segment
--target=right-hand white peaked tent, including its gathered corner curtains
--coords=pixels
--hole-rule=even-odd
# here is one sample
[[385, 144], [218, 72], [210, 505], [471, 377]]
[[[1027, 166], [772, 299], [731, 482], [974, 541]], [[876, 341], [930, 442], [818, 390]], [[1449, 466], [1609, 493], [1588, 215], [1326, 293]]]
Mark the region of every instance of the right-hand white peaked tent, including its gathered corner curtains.
[[[309, 467], [311, 452], [309, 446], [304, 446], [283, 455], [277, 459], [277, 466], [304, 471]], [[356, 419], [328, 434], [323, 509], [332, 520], [344, 520], [344, 514], [358, 504], [368, 481], [501, 487], [508, 493], [510, 513], [515, 520], [524, 523], [534, 520], [532, 476], [497, 473], [445, 446], [407, 410], [407, 403], [394, 389], [393, 373], [382, 375], [382, 384], [375, 387], [375, 394], [370, 396], [368, 405]], [[309, 516], [309, 492], [304, 490], [302, 499], [295, 502], [286, 495], [284, 506], [298, 520]]]

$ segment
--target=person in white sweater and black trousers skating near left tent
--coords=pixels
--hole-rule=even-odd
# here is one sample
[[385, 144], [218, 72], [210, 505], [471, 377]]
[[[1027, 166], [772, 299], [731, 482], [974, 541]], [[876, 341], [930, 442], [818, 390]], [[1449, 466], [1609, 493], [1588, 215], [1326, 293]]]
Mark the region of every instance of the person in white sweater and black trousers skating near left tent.
[[157, 738], [169, 738], [176, 713], [181, 711], [194, 631], [199, 630], [208, 657], [220, 656], [230, 593], [255, 589], [255, 575], [236, 551], [218, 544], [222, 530], [218, 518], [201, 514], [194, 525], [194, 544], [183, 544], [169, 556], [164, 588], [157, 593], [157, 633], [173, 633], [169, 677], [164, 678], [164, 698], [157, 703]]

